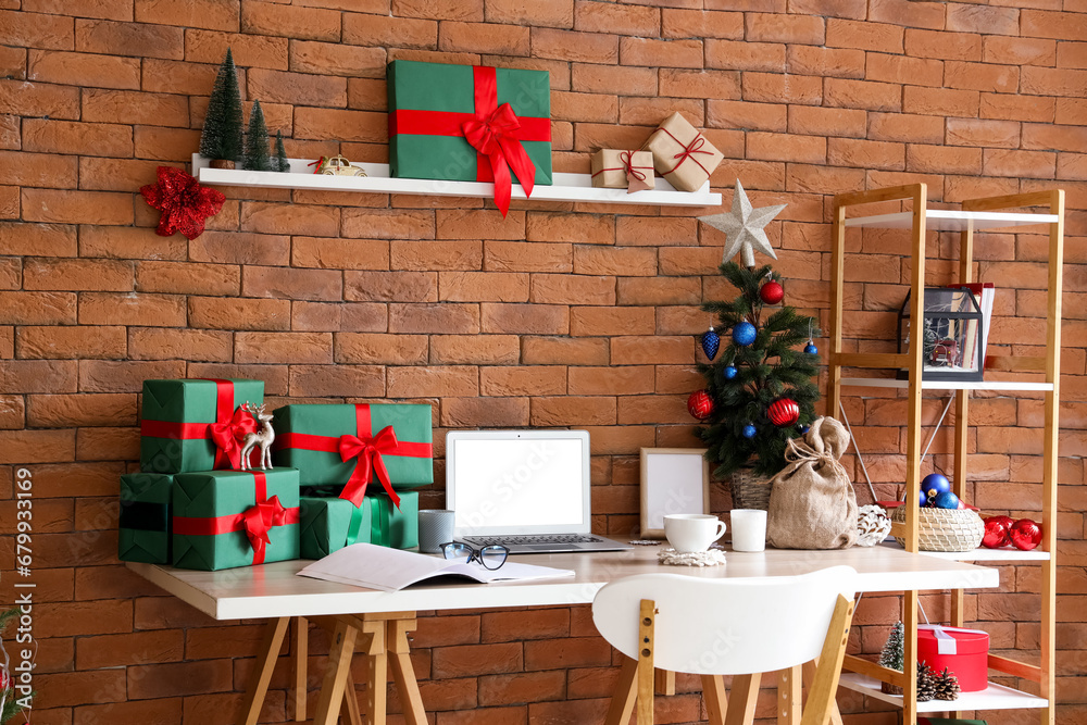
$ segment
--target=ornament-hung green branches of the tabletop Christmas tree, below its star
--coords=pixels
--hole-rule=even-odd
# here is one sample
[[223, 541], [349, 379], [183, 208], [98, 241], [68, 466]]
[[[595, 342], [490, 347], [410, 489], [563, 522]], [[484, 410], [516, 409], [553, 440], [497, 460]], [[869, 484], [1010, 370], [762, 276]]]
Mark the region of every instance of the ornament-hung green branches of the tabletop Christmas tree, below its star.
[[766, 309], [785, 295], [780, 275], [769, 264], [752, 268], [727, 262], [720, 270], [739, 296], [702, 304], [719, 321], [702, 338], [707, 355], [713, 360], [717, 330], [730, 340], [712, 363], [699, 365], [709, 410], [699, 415], [708, 426], [698, 435], [719, 478], [749, 463], [755, 474], [772, 476], [785, 465], [788, 440], [816, 417], [820, 395], [812, 377], [819, 373], [819, 351], [812, 337], [820, 330], [812, 317], [791, 307]]

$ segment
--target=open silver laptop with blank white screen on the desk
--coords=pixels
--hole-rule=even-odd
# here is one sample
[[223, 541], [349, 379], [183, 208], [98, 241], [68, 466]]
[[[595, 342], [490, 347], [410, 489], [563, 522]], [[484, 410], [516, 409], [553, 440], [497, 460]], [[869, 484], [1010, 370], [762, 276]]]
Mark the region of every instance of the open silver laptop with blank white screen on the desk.
[[453, 536], [510, 553], [630, 549], [590, 530], [587, 430], [451, 430], [446, 505]]

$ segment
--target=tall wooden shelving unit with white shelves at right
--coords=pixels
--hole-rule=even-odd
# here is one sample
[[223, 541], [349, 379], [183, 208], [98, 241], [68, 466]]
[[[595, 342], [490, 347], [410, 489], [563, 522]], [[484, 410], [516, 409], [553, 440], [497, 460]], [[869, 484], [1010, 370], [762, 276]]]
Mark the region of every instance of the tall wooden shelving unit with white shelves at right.
[[[857, 208], [888, 202], [907, 202], [910, 211], [896, 211], [874, 215], [850, 216]], [[1045, 212], [1016, 211], [1027, 208], [1046, 208]], [[979, 229], [1010, 229], [1042, 225], [1048, 227], [1048, 301], [1046, 317], [1046, 354], [1044, 357], [998, 357], [988, 355], [986, 370], [999, 371], [1000, 380], [979, 383], [948, 383], [922, 379], [922, 348], [920, 335], [910, 338], [905, 353], [850, 353], [842, 350], [842, 300], [845, 282], [846, 230], [849, 228], [909, 229], [911, 240], [912, 277], [910, 282], [910, 316], [923, 316], [925, 264], [927, 260], [926, 237], [934, 229], [960, 233], [958, 279], [973, 282], [974, 232]], [[866, 660], [847, 657], [841, 685], [849, 689], [885, 702], [898, 704], [903, 711], [907, 725], [916, 723], [919, 713], [969, 712], [974, 710], [997, 710], [1032, 708], [1040, 712], [1042, 725], [1054, 725], [1055, 702], [1054, 666], [1057, 621], [1057, 452], [1058, 411], [1060, 402], [1061, 370], [1061, 292], [1064, 252], [1064, 191], [1038, 191], [986, 199], [964, 201], [961, 210], [928, 209], [928, 191], [924, 184], [915, 184], [888, 189], [875, 189], [858, 193], [839, 195], [835, 198], [834, 253], [830, 265], [830, 350], [828, 354], [827, 411], [837, 411], [842, 397], [842, 388], [877, 387], [899, 388], [907, 391], [908, 438], [907, 438], [907, 490], [916, 491], [921, 483], [921, 405], [925, 390], [955, 390], [954, 423], [954, 468], [953, 490], [962, 496], [967, 478], [966, 443], [969, 432], [969, 408], [971, 390], [989, 390], [1013, 393], [1016, 391], [1042, 392], [1045, 397], [1045, 426], [1042, 428], [1042, 476], [1041, 546], [1030, 552], [1011, 550], [978, 550], [955, 554], [933, 554], [948, 559], [972, 562], [1036, 563], [1041, 567], [1041, 602], [1039, 607], [1040, 650], [1039, 665], [1020, 662], [1010, 658], [989, 654], [989, 670], [1005, 676], [1020, 677], [1038, 684], [1037, 696], [1021, 692], [1010, 687], [992, 684], [983, 692], [964, 693], [953, 702], [916, 701], [916, 634], [917, 592], [904, 592], [903, 623], [905, 626], [905, 672], [897, 673], [879, 667]], [[897, 280], [896, 280], [897, 282]], [[1000, 280], [997, 280], [998, 284]], [[844, 377], [844, 368], [897, 371], [908, 370], [909, 379], [898, 380], [886, 377]], [[989, 373], [987, 373], [988, 375]], [[1019, 379], [1023, 378], [1023, 379]], [[849, 392], [854, 392], [850, 390]], [[917, 551], [916, 508], [907, 511], [902, 538], [905, 548]], [[923, 552], [930, 553], [930, 552]], [[963, 625], [963, 590], [952, 590], [951, 626]], [[886, 695], [879, 689], [879, 680], [890, 682], [904, 688], [904, 696]]]

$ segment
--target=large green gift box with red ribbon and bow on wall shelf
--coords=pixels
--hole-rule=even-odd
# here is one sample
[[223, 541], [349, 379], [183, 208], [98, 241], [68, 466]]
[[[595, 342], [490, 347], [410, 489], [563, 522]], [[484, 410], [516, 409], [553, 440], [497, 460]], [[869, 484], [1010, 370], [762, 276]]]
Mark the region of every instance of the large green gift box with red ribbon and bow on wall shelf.
[[392, 61], [388, 90], [392, 176], [493, 182], [503, 215], [513, 176], [551, 184], [547, 71]]

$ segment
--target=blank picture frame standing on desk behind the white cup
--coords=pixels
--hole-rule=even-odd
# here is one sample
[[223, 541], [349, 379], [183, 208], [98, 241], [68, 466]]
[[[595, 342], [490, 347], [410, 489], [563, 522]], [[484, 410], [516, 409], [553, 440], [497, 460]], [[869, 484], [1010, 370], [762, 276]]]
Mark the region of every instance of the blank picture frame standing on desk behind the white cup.
[[664, 538], [664, 516], [710, 513], [704, 448], [641, 449], [641, 537]]

